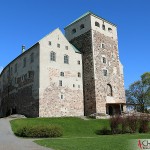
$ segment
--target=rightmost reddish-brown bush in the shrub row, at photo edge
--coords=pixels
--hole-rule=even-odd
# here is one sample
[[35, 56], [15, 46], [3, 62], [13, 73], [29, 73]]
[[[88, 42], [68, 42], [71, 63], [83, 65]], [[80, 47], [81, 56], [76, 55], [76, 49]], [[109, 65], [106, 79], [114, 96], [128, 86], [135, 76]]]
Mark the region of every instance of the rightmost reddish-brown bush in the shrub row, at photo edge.
[[147, 116], [143, 116], [139, 120], [139, 133], [147, 132], [149, 132], [149, 118]]

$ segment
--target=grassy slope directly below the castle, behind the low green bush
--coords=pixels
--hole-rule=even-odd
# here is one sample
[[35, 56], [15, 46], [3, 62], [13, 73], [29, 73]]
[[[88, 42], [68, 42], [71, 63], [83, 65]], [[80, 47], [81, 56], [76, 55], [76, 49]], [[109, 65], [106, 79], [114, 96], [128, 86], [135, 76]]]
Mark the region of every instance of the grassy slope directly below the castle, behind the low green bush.
[[63, 128], [63, 137], [93, 137], [96, 130], [108, 126], [108, 120], [82, 120], [79, 118], [33, 118], [12, 120], [12, 129], [15, 132], [19, 126], [58, 124]]

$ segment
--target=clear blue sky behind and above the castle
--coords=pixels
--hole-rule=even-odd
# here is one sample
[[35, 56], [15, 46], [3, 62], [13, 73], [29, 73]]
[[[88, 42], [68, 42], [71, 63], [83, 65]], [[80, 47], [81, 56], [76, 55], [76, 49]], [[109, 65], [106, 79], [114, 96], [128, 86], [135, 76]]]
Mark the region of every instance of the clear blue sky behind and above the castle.
[[0, 0], [0, 70], [43, 36], [87, 11], [118, 26], [125, 88], [150, 71], [150, 0]]

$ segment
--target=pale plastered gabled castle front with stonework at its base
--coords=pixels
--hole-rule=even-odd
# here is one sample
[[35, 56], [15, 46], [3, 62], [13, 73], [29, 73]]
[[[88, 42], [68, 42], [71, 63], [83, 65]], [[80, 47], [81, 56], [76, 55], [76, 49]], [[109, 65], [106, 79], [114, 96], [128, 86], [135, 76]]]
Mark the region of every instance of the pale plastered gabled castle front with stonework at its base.
[[[40, 117], [83, 116], [82, 55], [75, 50], [59, 29], [40, 41]], [[56, 61], [50, 60], [52, 51]], [[69, 64], [64, 63], [64, 55], [69, 56]]]

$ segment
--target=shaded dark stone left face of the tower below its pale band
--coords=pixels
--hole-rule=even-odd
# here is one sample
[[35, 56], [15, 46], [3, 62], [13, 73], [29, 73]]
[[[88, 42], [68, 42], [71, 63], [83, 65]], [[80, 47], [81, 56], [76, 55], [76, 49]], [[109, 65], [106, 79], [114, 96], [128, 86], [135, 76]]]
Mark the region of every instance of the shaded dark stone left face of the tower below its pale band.
[[91, 30], [70, 41], [82, 52], [84, 113], [96, 113], [94, 63]]

